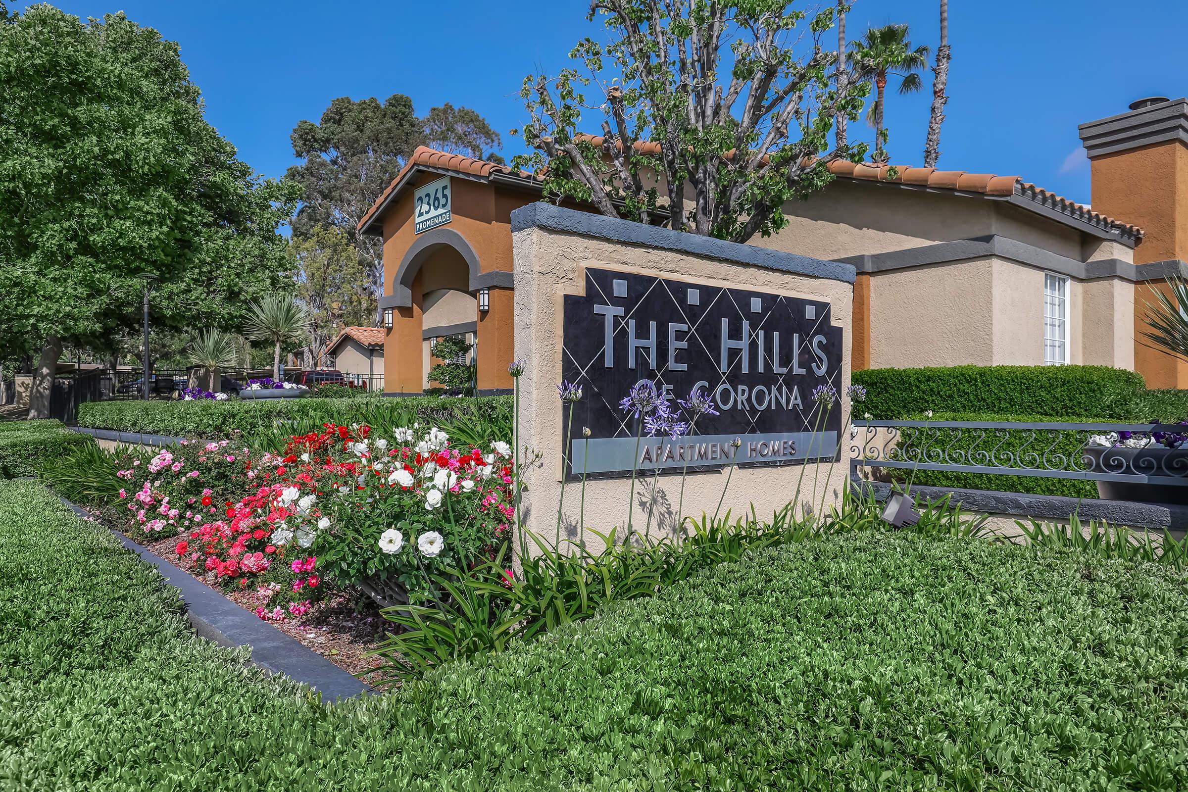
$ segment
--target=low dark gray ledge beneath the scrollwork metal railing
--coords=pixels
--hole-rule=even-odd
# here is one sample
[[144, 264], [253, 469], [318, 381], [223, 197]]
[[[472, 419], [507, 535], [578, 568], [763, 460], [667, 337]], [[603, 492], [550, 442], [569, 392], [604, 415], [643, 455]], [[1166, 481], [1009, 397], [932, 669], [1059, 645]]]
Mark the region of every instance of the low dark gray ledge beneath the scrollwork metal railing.
[[[891, 484], [859, 481], [862, 488], [886, 500]], [[1183, 528], [1188, 525], [1188, 507], [1167, 503], [1133, 503], [1097, 499], [1063, 498], [1060, 495], [1025, 495], [982, 489], [950, 489], [948, 487], [912, 487], [917, 502], [933, 502], [950, 498], [950, 502], [971, 512], [1006, 514], [1026, 521], [1026, 518], [1068, 519], [1076, 514], [1081, 520], [1105, 520], [1132, 528]]]

